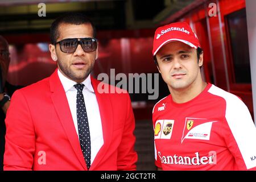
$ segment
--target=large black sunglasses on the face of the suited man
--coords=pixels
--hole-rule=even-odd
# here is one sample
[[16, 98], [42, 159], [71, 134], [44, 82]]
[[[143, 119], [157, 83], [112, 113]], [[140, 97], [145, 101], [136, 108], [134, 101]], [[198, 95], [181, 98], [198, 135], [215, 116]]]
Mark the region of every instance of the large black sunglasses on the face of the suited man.
[[74, 38], [74, 39], [63, 39], [56, 42], [54, 45], [60, 44], [60, 50], [65, 53], [73, 53], [76, 51], [78, 44], [82, 47], [84, 52], [93, 52], [97, 49], [97, 39], [94, 38]]

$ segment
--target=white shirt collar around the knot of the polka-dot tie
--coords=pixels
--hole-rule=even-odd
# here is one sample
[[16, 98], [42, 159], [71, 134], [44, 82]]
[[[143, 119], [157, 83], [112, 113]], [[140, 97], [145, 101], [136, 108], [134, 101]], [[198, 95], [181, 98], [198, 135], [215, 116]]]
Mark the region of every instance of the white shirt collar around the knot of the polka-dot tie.
[[[75, 89], [74, 85], [77, 84], [77, 82], [75, 82], [73, 80], [70, 80], [69, 78], [65, 77], [60, 72], [59, 69], [58, 69], [57, 73], [58, 73], [58, 76], [60, 78], [60, 82], [63, 85], [63, 88], [64, 88], [65, 92], [68, 92], [68, 90]], [[83, 82], [81, 82], [81, 84], [85, 85], [85, 89], [88, 89], [90, 92], [94, 93], [92, 82], [90, 81], [90, 74], [89, 74], [89, 76]]]

